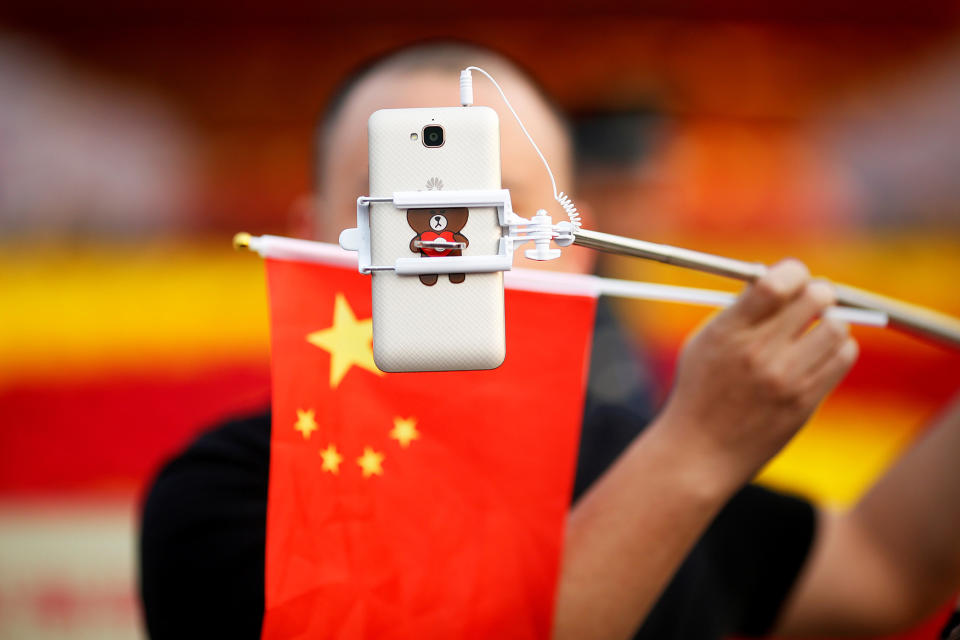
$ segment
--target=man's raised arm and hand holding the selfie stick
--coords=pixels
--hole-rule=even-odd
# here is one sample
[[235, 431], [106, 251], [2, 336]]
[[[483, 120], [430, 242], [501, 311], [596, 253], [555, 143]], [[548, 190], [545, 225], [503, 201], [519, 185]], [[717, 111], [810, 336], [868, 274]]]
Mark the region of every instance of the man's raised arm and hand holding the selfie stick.
[[853, 364], [833, 302], [787, 261], [684, 347], [666, 408], [570, 515], [557, 638], [628, 638], [724, 503]]

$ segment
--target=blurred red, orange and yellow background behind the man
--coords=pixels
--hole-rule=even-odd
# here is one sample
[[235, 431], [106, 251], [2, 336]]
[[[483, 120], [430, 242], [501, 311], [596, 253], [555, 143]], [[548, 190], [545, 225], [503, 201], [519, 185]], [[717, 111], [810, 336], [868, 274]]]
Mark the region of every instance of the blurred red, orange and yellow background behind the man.
[[[597, 229], [796, 256], [960, 315], [958, 14], [930, 1], [8, 3], [0, 637], [142, 636], [144, 483], [198, 430], [269, 399], [262, 266], [230, 237], [288, 231], [317, 116], [360, 62], [430, 37], [490, 46], [571, 114], [574, 191]], [[734, 288], [635, 260], [600, 270]], [[618, 309], [666, 393], [707, 312]], [[761, 482], [850, 504], [960, 387], [956, 351], [856, 335], [860, 362]], [[942, 619], [909, 637], [936, 637]]]

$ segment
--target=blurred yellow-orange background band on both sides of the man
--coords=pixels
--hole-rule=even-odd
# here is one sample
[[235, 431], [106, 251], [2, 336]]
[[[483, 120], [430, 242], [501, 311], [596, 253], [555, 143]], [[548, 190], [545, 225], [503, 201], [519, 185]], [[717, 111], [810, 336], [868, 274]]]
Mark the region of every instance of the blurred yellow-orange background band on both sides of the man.
[[[960, 312], [954, 283], [960, 273], [960, 238], [657, 240], [768, 262], [795, 255], [815, 273]], [[233, 252], [229, 241], [0, 249], [0, 382], [111, 367], [265, 358], [262, 263]], [[655, 282], [737, 286], [639, 260], [614, 260], [611, 270]], [[650, 303], [624, 303], [624, 309], [636, 329], [661, 345], [679, 343], [708, 313]]]

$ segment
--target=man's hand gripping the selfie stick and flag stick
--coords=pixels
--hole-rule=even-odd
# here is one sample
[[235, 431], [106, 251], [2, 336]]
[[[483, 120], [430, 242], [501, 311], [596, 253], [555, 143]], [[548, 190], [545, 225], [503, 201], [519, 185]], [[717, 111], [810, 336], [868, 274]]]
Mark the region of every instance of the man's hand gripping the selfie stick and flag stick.
[[659, 426], [746, 482], [857, 358], [844, 323], [825, 319], [808, 331], [834, 301], [800, 262], [771, 268], [686, 344]]

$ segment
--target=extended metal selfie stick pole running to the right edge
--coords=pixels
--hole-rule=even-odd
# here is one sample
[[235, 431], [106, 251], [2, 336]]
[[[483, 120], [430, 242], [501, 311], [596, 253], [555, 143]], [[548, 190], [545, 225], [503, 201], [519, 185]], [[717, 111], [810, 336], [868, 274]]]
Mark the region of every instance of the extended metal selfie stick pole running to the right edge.
[[[744, 262], [588, 229], [577, 231], [573, 244], [607, 253], [655, 260], [745, 282], [756, 280], [767, 270], [765, 265], [757, 262]], [[840, 304], [883, 311], [889, 317], [892, 327], [960, 348], [960, 320], [956, 318], [847, 285], [836, 284], [835, 286], [837, 302]]]

